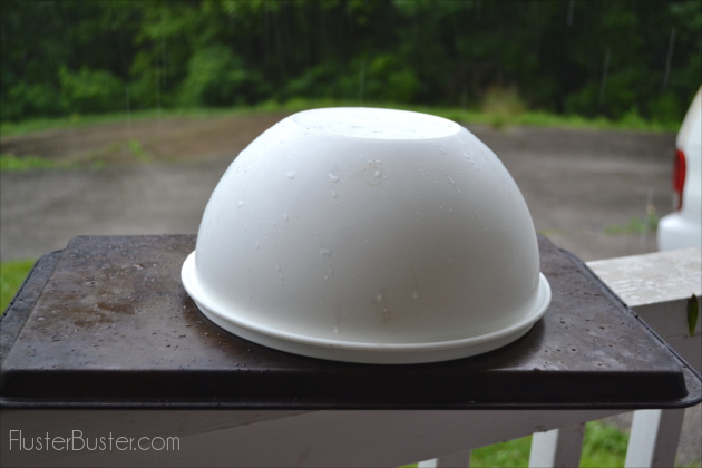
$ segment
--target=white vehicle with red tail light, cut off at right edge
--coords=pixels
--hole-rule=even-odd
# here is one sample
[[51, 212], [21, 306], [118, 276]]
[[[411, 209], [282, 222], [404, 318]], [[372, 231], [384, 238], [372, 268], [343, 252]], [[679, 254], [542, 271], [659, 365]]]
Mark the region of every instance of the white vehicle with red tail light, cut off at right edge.
[[675, 147], [675, 211], [659, 223], [660, 251], [702, 245], [702, 87], [685, 115]]

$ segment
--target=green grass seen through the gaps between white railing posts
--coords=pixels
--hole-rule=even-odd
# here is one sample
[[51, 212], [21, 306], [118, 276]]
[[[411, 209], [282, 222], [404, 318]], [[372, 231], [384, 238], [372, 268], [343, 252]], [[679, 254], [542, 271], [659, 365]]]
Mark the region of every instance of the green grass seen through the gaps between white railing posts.
[[[628, 436], [614, 426], [602, 421], [591, 421], [585, 425], [585, 438], [581, 468], [618, 468], [624, 466]], [[527, 467], [529, 464], [529, 450], [532, 436], [480, 447], [470, 452], [470, 467]], [[417, 464], [406, 465], [402, 468], [416, 467]], [[692, 465], [691, 467], [699, 467]]]

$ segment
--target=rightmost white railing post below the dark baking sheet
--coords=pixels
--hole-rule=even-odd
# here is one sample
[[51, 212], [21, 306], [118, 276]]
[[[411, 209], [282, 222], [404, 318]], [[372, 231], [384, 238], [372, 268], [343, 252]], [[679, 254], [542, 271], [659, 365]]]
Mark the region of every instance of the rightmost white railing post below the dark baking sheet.
[[634, 412], [624, 467], [674, 466], [684, 415], [684, 409]]

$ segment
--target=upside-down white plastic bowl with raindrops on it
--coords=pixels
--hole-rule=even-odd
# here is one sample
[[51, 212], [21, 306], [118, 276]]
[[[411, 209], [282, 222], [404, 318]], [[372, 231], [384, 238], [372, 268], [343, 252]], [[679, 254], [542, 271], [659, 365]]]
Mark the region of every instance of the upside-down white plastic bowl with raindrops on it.
[[390, 109], [306, 110], [263, 133], [214, 189], [182, 279], [242, 338], [365, 363], [487, 352], [550, 302], [497, 156], [450, 120]]

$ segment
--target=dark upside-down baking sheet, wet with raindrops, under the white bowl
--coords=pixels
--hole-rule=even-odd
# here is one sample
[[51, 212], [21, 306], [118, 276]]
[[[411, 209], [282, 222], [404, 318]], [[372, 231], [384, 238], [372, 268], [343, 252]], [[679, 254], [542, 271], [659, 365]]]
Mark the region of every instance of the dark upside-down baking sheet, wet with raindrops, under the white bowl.
[[2, 319], [3, 403], [589, 409], [702, 398], [699, 377], [545, 237], [553, 301], [529, 333], [412, 365], [304, 358], [221, 330], [181, 283], [194, 246], [192, 235], [82, 236], [43, 257]]

